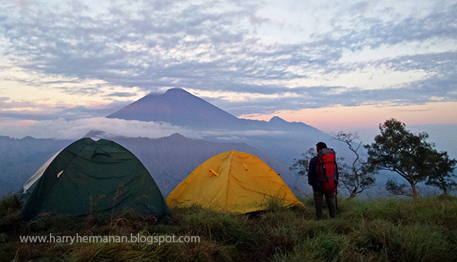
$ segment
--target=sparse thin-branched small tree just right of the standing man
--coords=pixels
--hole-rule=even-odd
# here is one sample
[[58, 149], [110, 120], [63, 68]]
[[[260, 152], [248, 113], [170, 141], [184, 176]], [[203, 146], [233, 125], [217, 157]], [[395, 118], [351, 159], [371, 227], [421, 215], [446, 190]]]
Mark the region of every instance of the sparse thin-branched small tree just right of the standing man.
[[347, 164], [340, 164], [338, 166], [340, 182], [349, 191], [349, 198], [355, 197], [357, 194], [363, 192], [363, 190], [372, 188], [375, 185], [375, 177], [373, 175], [376, 172], [369, 169], [366, 159], [361, 158], [359, 150], [362, 142], [355, 143], [355, 140], [359, 139], [359, 135], [357, 133], [340, 131], [333, 134], [333, 139], [345, 143], [349, 147], [349, 150], [356, 156], [350, 166]]

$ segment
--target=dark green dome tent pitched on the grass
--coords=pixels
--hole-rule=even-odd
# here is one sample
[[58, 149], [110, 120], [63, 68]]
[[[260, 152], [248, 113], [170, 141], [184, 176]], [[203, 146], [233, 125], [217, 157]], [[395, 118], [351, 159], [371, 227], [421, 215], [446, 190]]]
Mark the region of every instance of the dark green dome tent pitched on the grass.
[[51, 157], [22, 188], [20, 216], [82, 216], [134, 209], [146, 216], [169, 213], [148, 170], [110, 140], [82, 138]]

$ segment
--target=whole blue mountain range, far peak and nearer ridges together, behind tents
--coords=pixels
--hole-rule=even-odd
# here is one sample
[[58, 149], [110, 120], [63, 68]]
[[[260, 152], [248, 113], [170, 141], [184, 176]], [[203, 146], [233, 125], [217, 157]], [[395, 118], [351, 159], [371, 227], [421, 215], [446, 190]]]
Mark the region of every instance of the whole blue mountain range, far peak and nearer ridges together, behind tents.
[[[198, 131], [202, 138], [198, 140], [179, 134], [156, 139], [105, 137], [103, 130], [86, 134], [114, 140], [131, 150], [150, 171], [165, 196], [202, 162], [230, 150], [259, 157], [281, 174], [293, 192], [304, 192], [303, 178], [288, 169], [290, 162], [307, 150], [307, 144], [314, 145], [316, 139], [328, 138], [312, 126], [287, 122], [280, 117], [273, 117], [269, 122], [238, 119], [183, 89], [150, 94], [108, 117], [166, 122]], [[0, 152], [4, 155], [4, 161], [0, 159], [0, 193], [19, 190], [41, 164], [72, 142], [30, 137], [0, 139]]]

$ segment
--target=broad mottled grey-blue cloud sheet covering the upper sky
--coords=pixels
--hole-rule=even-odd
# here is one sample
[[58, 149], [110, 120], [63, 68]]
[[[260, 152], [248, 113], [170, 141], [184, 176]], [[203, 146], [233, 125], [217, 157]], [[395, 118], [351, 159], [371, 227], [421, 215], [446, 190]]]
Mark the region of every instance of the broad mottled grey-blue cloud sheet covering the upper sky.
[[[50, 84], [60, 84], [60, 91], [73, 95], [97, 96], [107, 84], [146, 92], [181, 87], [244, 93], [246, 99], [240, 102], [207, 97], [236, 115], [457, 100], [457, 4], [421, 9], [421, 15], [402, 15], [395, 8], [379, 7], [382, 3], [354, 2], [326, 10], [328, 18], [321, 18], [329, 21], [322, 26], [326, 30], [309, 29], [313, 33], [306, 41], [269, 44], [257, 34], [263, 26], [274, 25], [271, 18], [258, 13], [262, 3], [203, 2], [112, 1], [101, 7], [82, 1], [2, 4], [4, 57], [28, 72], [64, 79], [59, 83], [24, 79], [28, 85], [46, 89]], [[381, 11], [373, 13], [375, 8]], [[451, 43], [448, 51], [439, 49], [441, 41]], [[411, 44], [420, 52], [407, 48]], [[401, 48], [406, 51], [393, 56], [390, 53]], [[347, 59], [348, 53], [367, 50], [383, 54], [363, 61]], [[369, 88], [370, 82], [362, 86], [338, 80], [378, 72], [389, 78], [387, 70], [420, 72], [426, 77], [408, 79], [404, 74], [401, 81], [378, 90]], [[91, 79], [103, 84], [80, 84]], [[103, 96], [116, 99], [131, 95], [112, 91]], [[112, 108], [58, 106], [47, 117], [103, 116]], [[46, 119], [42, 117], [45, 114], [37, 117], [27, 111], [0, 115]]]

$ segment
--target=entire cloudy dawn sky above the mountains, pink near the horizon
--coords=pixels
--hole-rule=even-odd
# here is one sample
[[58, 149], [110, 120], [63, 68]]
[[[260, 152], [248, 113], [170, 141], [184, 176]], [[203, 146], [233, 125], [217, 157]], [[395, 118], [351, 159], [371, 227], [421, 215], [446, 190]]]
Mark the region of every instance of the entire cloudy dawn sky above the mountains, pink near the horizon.
[[457, 3], [0, 0], [0, 135], [73, 138], [171, 88], [326, 132], [451, 130]]

